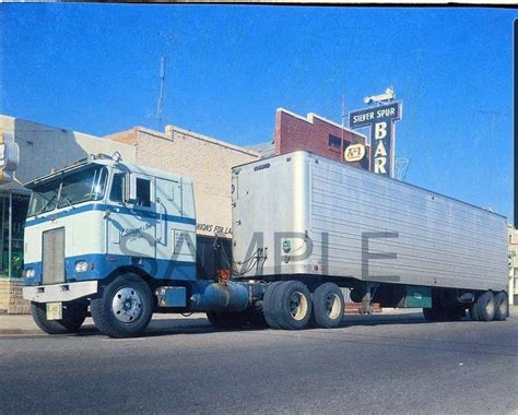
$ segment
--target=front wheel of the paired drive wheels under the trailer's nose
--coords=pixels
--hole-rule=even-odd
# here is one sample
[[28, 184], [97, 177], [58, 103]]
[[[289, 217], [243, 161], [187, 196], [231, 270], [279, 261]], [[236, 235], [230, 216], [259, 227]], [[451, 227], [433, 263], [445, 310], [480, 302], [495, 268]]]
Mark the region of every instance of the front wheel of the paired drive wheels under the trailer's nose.
[[311, 295], [298, 281], [284, 281], [275, 287], [271, 307], [280, 329], [306, 329], [311, 318]]

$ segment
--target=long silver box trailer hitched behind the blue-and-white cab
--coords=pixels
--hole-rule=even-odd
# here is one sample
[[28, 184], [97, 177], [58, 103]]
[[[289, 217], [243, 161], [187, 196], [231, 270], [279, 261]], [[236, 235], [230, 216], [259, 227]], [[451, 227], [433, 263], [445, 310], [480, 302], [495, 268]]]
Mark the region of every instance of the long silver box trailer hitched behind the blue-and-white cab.
[[507, 313], [504, 216], [307, 152], [236, 166], [232, 180], [238, 277], [332, 283], [366, 311], [377, 300], [431, 320], [481, 297], [481, 320]]

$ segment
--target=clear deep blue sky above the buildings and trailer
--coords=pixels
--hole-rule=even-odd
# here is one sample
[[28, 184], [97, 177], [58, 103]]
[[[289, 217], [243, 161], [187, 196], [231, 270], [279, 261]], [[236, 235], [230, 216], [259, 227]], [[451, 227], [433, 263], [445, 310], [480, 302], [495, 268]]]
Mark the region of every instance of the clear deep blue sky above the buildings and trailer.
[[[501, 9], [1, 4], [0, 112], [96, 135], [164, 123], [239, 145], [275, 108], [340, 122], [389, 85], [407, 181], [511, 217], [513, 21]], [[487, 111], [496, 112], [492, 116]], [[172, 161], [174, 163], [174, 161]]]

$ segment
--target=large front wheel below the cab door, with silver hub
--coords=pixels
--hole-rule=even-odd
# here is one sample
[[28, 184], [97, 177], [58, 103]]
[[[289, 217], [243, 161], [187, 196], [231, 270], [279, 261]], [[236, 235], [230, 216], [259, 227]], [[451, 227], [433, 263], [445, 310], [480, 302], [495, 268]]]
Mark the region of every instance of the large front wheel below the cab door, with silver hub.
[[128, 273], [102, 287], [90, 308], [97, 329], [110, 337], [142, 334], [153, 315], [153, 297], [145, 281]]

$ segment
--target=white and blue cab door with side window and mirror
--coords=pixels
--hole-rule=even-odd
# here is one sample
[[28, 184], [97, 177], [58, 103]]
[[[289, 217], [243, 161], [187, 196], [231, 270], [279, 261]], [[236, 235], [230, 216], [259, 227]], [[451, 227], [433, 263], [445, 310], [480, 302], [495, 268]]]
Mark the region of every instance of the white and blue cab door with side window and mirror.
[[[127, 180], [134, 199], [123, 200]], [[108, 197], [107, 253], [132, 258], [156, 258], [157, 212], [155, 179], [142, 174], [116, 173]]]

